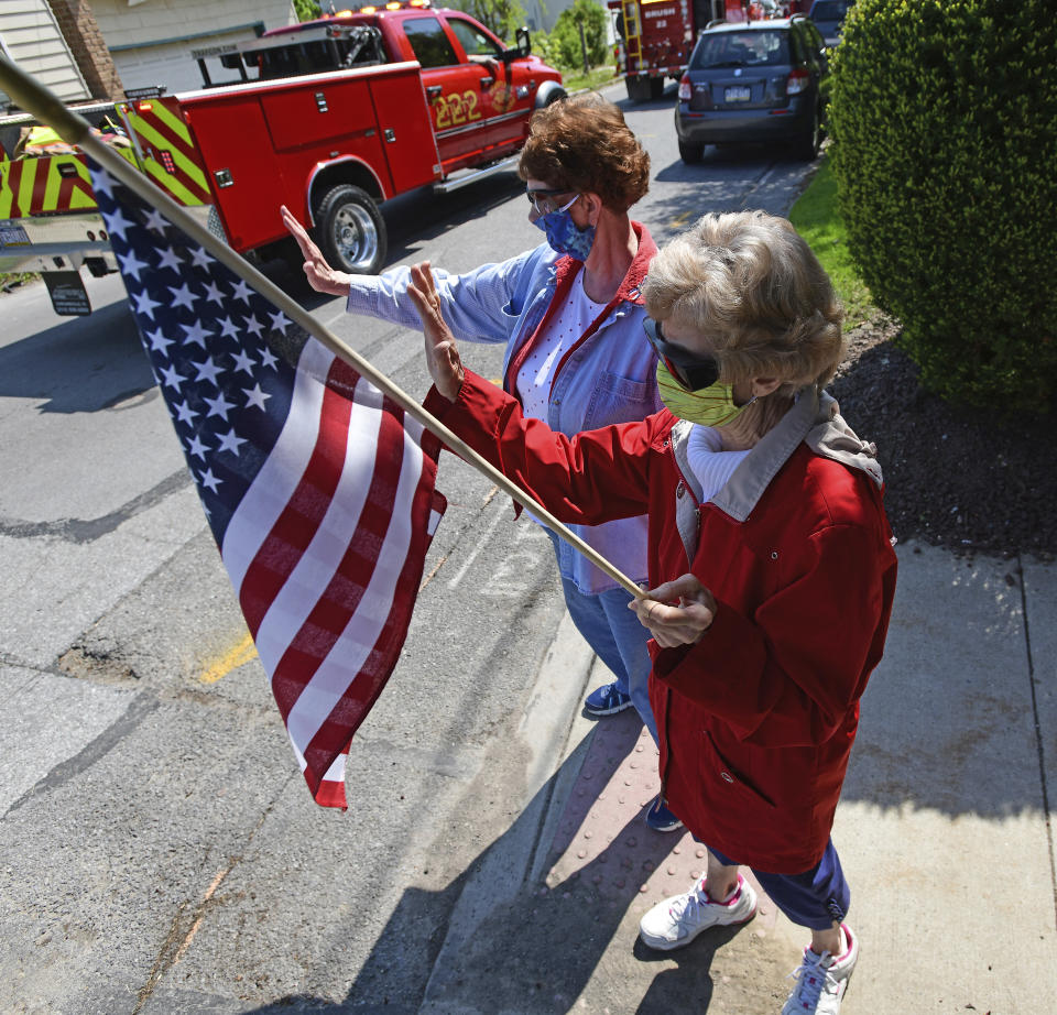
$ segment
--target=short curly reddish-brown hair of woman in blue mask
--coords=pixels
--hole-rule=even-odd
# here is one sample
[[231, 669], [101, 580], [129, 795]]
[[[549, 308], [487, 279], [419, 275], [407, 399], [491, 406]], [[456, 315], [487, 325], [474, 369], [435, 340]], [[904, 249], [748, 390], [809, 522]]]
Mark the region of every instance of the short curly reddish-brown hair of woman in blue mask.
[[597, 194], [611, 211], [624, 212], [650, 188], [650, 156], [620, 109], [588, 91], [533, 113], [517, 175]]

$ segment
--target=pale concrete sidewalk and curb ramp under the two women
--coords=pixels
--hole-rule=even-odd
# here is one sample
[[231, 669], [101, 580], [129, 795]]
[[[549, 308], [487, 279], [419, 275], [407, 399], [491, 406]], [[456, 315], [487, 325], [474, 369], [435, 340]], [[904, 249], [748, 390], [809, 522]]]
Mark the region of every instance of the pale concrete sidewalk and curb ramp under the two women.
[[[897, 552], [833, 830], [862, 945], [842, 1013], [1053, 1015], [1057, 566]], [[686, 949], [638, 941], [642, 914], [689, 886], [704, 851], [645, 826], [656, 750], [630, 710], [568, 728], [608, 679], [591, 658], [566, 630], [541, 673], [530, 799], [469, 878], [423, 1011], [780, 1012], [806, 934], [765, 897], [748, 926]]]

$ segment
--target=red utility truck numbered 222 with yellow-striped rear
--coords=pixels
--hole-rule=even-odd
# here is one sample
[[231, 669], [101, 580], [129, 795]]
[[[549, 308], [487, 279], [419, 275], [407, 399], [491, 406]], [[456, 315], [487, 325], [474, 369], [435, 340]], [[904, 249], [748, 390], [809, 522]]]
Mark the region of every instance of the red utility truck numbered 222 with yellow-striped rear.
[[[333, 264], [372, 273], [379, 204], [512, 168], [532, 112], [565, 95], [528, 47], [525, 29], [506, 47], [460, 11], [393, 0], [193, 54], [201, 90], [76, 109], [240, 253], [291, 251], [286, 204]], [[214, 81], [215, 57], [238, 81]], [[30, 117], [0, 118], [0, 271], [42, 272], [56, 313], [85, 314], [81, 265], [116, 269], [84, 156]]]

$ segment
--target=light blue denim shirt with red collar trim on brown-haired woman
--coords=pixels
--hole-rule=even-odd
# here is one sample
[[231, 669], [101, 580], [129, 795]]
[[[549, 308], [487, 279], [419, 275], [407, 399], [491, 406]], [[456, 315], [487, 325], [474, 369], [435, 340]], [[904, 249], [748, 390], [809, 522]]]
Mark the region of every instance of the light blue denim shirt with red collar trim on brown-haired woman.
[[[639, 295], [656, 245], [645, 227], [632, 225], [639, 236], [639, 253], [606, 317], [559, 362], [551, 389], [545, 422], [569, 437], [611, 423], [642, 419], [663, 405], [657, 394], [657, 360], [643, 334], [645, 308]], [[461, 275], [436, 268], [433, 274], [444, 318], [457, 339], [506, 343], [503, 386], [513, 391], [515, 379], [510, 368], [514, 358], [536, 334], [559, 286], [570, 283], [581, 266], [543, 243], [509, 261], [483, 264]], [[352, 275], [348, 312], [417, 329], [418, 315], [407, 297], [410, 281], [407, 268], [382, 275]], [[632, 581], [646, 580], [645, 516], [570, 527]], [[558, 545], [558, 567], [562, 577], [574, 581], [581, 592], [618, 588], [565, 542]]]

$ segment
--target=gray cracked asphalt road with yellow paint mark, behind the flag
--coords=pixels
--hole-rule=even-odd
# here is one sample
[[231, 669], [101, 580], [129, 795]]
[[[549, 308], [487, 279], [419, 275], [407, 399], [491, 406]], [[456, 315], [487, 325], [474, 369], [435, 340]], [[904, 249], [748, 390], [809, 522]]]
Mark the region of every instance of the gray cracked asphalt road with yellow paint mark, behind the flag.
[[[803, 181], [760, 151], [684, 166], [671, 94], [626, 113], [658, 241], [705, 210], [784, 211]], [[391, 264], [458, 271], [540, 240], [513, 175], [385, 215]], [[587, 681], [570, 648], [571, 697], [525, 724], [563, 618], [547, 539], [445, 457], [450, 506], [352, 746], [350, 810], [316, 808], [121, 284], [88, 288], [87, 319], [55, 317], [41, 286], [0, 301], [0, 1011], [418, 1011], [462, 886], [523, 818]], [[425, 392], [421, 336], [310, 305]], [[465, 354], [497, 375], [500, 350]]]

